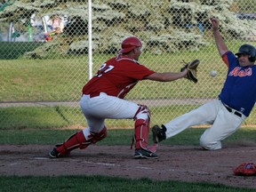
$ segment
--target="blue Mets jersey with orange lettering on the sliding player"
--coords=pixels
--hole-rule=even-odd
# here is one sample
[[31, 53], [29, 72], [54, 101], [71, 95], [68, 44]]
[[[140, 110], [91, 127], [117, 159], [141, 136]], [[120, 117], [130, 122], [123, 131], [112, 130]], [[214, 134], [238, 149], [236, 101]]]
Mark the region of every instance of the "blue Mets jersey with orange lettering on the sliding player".
[[228, 74], [220, 100], [249, 116], [256, 101], [256, 65], [240, 67], [233, 52], [226, 52], [222, 60], [228, 66]]

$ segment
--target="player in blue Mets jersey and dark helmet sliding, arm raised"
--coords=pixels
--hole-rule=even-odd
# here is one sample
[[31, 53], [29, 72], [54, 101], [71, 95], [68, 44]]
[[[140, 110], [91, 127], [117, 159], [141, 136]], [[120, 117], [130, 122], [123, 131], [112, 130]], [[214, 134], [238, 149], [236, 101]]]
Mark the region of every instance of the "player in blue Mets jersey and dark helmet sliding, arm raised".
[[219, 98], [187, 114], [152, 128], [153, 140], [159, 142], [197, 124], [211, 124], [200, 137], [200, 146], [208, 150], [222, 148], [221, 141], [236, 132], [250, 115], [256, 101], [256, 49], [243, 44], [234, 54], [228, 50], [219, 31], [219, 20], [212, 18], [212, 32], [217, 49], [228, 67]]

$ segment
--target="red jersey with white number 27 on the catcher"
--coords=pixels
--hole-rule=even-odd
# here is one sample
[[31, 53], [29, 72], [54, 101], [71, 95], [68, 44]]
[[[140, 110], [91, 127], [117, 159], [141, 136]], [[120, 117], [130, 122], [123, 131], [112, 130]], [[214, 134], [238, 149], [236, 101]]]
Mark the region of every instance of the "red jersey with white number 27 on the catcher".
[[95, 76], [84, 85], [83, 93], [105, 92], [108, 95], [124, 98], [145, 76], [156, 73], [124, 55], [119, 55], [104, 63]]

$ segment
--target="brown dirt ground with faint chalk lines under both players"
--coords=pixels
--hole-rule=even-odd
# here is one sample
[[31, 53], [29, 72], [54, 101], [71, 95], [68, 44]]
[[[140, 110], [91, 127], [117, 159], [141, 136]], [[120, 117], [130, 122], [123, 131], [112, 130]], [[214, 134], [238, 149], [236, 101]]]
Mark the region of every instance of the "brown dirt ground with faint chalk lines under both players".
[[52, 146], [1, 145], [1, 175], [106, 175], [152, 180], [184, 180], [256, 188], [256, 176], [234, 176], [233, 168], [256, 161], [256, 147], [237, 145], [218, 151], [191, 146], [160, 146], [158, 159], [133, 159], [129, 146], [90, 146], [70, 157], [50, 159]]

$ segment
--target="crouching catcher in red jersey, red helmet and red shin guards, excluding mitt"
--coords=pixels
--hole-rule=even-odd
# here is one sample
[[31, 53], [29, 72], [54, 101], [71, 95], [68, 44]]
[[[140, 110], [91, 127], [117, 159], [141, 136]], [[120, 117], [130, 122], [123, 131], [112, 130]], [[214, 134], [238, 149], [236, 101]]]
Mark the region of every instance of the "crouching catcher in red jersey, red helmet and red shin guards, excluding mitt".
[[157, 158], [148, 147], [150, 112], [147, 106], [124, 100], [125, 95], [141, 80], [171, 82], [187, 76], [182, 72], [156, 73], [140, 65], [140, 39], [124, 39], [120, 54], [105, 62], [95, 76], [84, 85], [80, 105], [88, 127], [56, 145], [52, 158], [68, 156], [75, 148], [87, 148], [107, 137], [105, 119], [133, 119], [135, 121], [135, 158]]

